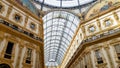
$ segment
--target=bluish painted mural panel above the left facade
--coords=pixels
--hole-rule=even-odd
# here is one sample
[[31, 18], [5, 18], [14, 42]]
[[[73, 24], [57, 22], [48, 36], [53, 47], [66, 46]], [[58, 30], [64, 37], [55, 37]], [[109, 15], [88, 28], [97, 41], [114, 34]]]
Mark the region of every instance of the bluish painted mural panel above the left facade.
[[16, 0], [19, 4], [21, 4], [22, 6], [26, 7], [27, 9], [29, 9], [32, 13], [36, 14], [37, 16], [39, 16], [39, 11], [37, 10], [37, 8], [32, 4], [32, 2], [30, 0]]

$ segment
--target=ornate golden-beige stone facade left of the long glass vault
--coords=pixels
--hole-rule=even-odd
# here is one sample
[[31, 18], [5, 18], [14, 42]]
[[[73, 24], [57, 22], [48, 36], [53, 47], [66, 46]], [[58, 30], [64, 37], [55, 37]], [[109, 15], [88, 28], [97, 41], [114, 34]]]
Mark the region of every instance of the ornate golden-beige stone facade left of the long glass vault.
[[13, 0], [0, 7], [0, 65], [44, 68], [41, 18]]

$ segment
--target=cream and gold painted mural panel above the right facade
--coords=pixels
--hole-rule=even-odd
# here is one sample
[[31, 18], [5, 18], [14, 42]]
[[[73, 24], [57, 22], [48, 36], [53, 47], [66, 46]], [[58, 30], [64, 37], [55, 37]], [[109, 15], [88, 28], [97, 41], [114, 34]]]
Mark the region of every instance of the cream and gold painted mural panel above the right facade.
[[120, 0], [100, 0], [88, 11], [86, 19], [118, 5], [120, 5]]

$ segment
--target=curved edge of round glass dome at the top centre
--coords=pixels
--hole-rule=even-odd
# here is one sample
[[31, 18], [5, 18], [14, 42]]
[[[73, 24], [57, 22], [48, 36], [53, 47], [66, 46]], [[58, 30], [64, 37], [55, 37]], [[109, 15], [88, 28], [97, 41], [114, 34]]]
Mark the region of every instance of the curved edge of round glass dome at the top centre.
[[52, 8], [79, 8], [81, 6], [93, 3], [96, 0], [34, 0], [41, 5]]

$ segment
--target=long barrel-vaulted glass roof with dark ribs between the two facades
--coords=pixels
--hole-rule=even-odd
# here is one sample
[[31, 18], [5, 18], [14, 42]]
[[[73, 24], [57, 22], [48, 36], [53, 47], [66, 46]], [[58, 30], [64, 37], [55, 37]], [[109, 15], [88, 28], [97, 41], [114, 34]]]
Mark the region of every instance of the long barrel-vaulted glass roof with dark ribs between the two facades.
[[66, 11], [54, 11], [44, 16], [44, 55], [46, 66], [58, 66], [70, 45], [80, 22]]

